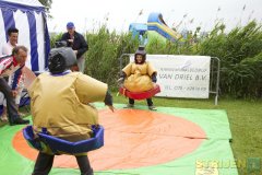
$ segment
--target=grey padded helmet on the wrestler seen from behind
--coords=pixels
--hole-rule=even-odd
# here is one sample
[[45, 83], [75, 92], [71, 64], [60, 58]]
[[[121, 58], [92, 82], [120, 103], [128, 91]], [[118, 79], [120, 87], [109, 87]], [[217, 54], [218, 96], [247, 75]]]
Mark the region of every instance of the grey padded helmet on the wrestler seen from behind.
[[70, 47], [53, 48], [49, 52], [48, 69], [52, 74], [62, 73], [76, 65], [76, 56]]

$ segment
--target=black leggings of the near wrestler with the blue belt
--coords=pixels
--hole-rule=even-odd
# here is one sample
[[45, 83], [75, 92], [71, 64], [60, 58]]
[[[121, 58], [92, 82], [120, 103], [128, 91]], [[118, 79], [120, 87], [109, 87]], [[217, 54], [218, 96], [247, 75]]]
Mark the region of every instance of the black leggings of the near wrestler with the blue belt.
[[[55, 155], [49, 155], [46, 153], [38, 153], [34, 172], [32, 175], [48, 175], [51, 171]], [[81, 175], [93, 175], [93, 170], [90, 165], [90, 160], [87, 155], [75, 156]]]

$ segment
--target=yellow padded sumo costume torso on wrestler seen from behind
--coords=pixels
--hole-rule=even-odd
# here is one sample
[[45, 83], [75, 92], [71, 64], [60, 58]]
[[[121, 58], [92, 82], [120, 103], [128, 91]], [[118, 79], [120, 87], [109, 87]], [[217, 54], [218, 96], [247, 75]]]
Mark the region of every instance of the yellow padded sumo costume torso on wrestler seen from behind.
[[28, 89], [33, 126], [68, 141], [88, 139], [91, 125], [98, 124], [97, 109], [90, 103], [103, 102], [106, 92], [107, 84], [80, 72], [43, 73]]

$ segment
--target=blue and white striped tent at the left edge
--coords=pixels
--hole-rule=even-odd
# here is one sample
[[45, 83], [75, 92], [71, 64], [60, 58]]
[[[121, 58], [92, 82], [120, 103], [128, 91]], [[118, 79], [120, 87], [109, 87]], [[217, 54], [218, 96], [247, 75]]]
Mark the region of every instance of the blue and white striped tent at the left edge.
[[26, 67], [44, 71], [50, 49], [45, 7], [37, 0], [0, 0], [0, 50], [8, 40], [8, 28], [16, 27], [19, 45], [28, 48]]

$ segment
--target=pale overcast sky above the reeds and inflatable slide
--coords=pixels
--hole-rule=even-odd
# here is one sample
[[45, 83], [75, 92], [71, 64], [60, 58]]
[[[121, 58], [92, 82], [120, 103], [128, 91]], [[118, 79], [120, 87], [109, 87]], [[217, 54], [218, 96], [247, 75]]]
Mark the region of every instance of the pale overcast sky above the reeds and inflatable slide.
[[110, 31], [128, 32], [130, 23], [146, 23], [151, 12], [162, 13], [166, 24], [179, 31], [209, 31], [216, 21], [231, 30], [250, 19], [261, 23], [262, 0], [52, 0], [48, 26], [50, 32], [64, 32], [72, 21], [82, 33], [106, 23]]

